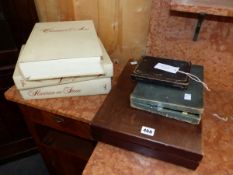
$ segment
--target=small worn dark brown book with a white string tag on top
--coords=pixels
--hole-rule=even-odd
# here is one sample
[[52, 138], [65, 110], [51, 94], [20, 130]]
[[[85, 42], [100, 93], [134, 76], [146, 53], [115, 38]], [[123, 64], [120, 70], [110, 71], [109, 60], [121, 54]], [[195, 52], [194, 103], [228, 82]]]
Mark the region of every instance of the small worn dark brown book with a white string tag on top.
[[140, 60], [131, 74], [132, 79], [181, 89], [186, 89], [188, 87], [189, 77], [187, 75], [179, 72], [170, 73], [154, 68], [158, 63], [178, 67], [180, 71], [190, 73], [191, 62], [145, 56]]

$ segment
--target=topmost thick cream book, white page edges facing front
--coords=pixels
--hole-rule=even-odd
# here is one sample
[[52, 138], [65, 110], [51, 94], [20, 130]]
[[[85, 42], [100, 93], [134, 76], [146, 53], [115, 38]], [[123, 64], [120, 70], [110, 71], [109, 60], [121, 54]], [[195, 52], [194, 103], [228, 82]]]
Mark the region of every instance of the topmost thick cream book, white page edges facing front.
[[91, 20], [36, 23], [18, 58], [27, 80], [103, 74]]

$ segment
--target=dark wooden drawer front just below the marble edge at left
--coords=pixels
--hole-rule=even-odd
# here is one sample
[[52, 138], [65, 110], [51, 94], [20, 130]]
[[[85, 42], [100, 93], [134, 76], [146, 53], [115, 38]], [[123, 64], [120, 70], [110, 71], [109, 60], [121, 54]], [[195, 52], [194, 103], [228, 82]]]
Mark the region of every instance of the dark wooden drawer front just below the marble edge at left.
[[56, 115], [25, 105], [20, 105], [20, 109], [23, 112], [25, 120], [28, 122], [41, 124], [65, 133], [70, 133], [75, 136], [93, 140], [89, 123]]

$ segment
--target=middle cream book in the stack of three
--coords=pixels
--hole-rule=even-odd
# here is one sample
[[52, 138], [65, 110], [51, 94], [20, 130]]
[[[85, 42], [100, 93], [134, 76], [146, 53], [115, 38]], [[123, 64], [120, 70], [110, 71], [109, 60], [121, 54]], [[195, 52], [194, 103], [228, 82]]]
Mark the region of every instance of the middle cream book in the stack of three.
[[[61, 85], [67, 83], [74, 83], [78, 81], [86, 81], [92, 80], [96, 78], [106, 78], [113, 76], [113, 64], [112, 61], [105, 50], [102, 42], [99, 40], [100, 46], [102, 48], [103, 59], [102, 59], [102, 67], [104, 70], [104, 74], [94, 75], [94, 76], [75, 76], [75, 77], [65, 77], [65, 78], [54, 78], [54, 79], [45, 79], [45, 80], [27, 80], [25, 79], [18, 67], [18, 63], [16, 64], [15, 71], [13, 74], [14, 83], [19, 90], [29, 89], [29, 88], [38, 88], [43, 86], [53, 86], [53, 85]], [[21, 48], [21, 51], [24, 49], [24, 45]], [[20, 54], [21, 54], [20, 51]]]

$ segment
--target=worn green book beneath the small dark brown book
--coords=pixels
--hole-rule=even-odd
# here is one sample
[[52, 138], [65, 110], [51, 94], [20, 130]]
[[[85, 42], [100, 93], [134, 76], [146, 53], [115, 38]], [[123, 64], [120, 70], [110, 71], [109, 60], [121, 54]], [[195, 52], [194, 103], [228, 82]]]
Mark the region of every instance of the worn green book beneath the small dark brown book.
[[[191, 74], [203, 80], [203, 66], [192, 65]], [[138, 82], [130, 95], [134, 108], [198, 124], [204, 111], [201, 83], [190, 80], [186, 90]]]

